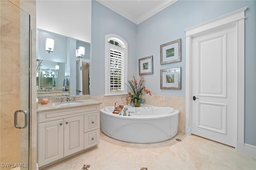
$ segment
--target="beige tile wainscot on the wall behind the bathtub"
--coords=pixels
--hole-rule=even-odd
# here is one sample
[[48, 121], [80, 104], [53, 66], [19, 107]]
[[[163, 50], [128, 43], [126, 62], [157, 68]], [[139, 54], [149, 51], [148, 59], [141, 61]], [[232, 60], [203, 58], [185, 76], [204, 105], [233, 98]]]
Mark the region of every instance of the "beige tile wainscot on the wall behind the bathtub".
[[[119, 105], [126, 103], [125, 95], [114, 95], [114, 96], [92, 96], [92, 99], [101, 101], [100, 109], [106, 106], [114, 106], [116, 102]], [[185, 97], [171, 97], [171, 96], [161, 96], [161, 95], [144, 95], [147, 105], [153, 105], [158, 107], [172, 107], [175, 110], [179, 110], [179, 125], [178, 132], [185, 133]]]

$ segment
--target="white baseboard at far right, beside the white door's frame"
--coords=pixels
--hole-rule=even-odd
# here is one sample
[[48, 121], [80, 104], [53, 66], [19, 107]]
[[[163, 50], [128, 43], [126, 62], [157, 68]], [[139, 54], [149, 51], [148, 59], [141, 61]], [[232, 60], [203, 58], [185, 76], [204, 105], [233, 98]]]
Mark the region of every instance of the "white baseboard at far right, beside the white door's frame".
[[256, 158], [256, 146], [242, 142], [236, 142], [236, 151]]

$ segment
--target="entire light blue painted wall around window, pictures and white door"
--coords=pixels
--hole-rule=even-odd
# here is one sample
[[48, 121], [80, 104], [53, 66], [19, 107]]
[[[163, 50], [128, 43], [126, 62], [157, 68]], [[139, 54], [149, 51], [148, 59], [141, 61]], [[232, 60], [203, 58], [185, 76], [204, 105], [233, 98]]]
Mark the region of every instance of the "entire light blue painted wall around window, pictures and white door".
[[[186, 28], [248, 6], [245, 12], [245, 134], [244, 142], [256, 146], [256, 1], [178, 0], [138, 24], [92, 1], [92, 88], [93, 96], [104, 95], [104, 37], [118, 34], [128, 43], [128, 79], [138, 77], [138, 59], [153, 55], [154, 73], [145, 75], [153, 94], [185, 97]], [[118, 25], [115, 26], [115, 25]], [[160, 45], [181, 38], [182, 61], [160, 65]], [[160, 69], [182, 67], [182, 89], [160, 89]]]

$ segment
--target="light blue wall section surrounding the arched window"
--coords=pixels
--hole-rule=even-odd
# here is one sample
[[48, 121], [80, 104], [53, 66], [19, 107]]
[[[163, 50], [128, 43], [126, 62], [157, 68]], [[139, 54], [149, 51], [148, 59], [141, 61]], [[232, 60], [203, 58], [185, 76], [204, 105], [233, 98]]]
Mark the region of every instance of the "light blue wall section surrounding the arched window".
[[116, 34], [128, 43], [128, 77], [137, 72], [137, 25], [92, 0], [91, 85], [93, 96], [104, 95], [105, 36]]

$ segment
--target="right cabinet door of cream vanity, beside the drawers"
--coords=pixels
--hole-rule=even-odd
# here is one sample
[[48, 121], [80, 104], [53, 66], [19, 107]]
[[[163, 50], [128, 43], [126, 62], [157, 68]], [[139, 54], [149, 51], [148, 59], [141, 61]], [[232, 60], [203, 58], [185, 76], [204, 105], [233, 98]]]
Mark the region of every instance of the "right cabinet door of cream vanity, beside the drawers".
[[64, 156], [84, 149], [84, 116], [64, 119]]

